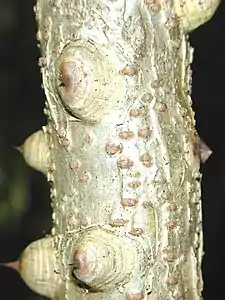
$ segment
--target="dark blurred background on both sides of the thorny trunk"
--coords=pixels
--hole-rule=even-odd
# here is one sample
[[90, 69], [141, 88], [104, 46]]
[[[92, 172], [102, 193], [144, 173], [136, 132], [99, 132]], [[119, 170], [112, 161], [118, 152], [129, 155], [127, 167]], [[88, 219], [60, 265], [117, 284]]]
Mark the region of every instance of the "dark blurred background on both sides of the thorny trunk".
[[[16, 260], [31, 241], [49, 233], [51, 207], [44, 176], [13, 148], [46, 120], [37, 65], [35, 0], [0, 0], [0, 261]], [[202, 167], [204, 300], [225, 300], [225, 3], [195, 30], [193, 108], [197, 129], [213, 154]], [[19, 171], [18, 171], [19, 170]], [[23, 183], [21, 196], [15, 186]], [[12, 192], [14, 191], [14, 196]], [[20, 196], [19, 196], [20, 195]], [[8, 205], [14, 197], [14, 204]], [[16, 201], [16, 199], [20, 199]], [[23, 200], [21, 200], [23, 199]], [[26, 199], [24, 203], [24, 199]], [[21, 202], [20, 216], [15, 203]], [[10, 202], [10, 203], [11, 203]], [[17, 204], [18, 205], [18, 204]], [[0, 267], [1, 300], [41, 300], [8, 268]]]

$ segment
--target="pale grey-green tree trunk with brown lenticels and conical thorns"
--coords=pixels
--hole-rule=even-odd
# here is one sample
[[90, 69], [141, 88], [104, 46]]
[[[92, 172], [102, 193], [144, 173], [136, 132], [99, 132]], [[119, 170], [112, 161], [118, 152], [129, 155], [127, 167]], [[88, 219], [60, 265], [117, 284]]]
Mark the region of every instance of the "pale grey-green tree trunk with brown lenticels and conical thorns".
[[36, 292], [201, 298], [202, 150], [187, 33], [218, 5], [38, 1], [48, 124], [26, 159], [51, 182], [54, 228], [20, 260]]

